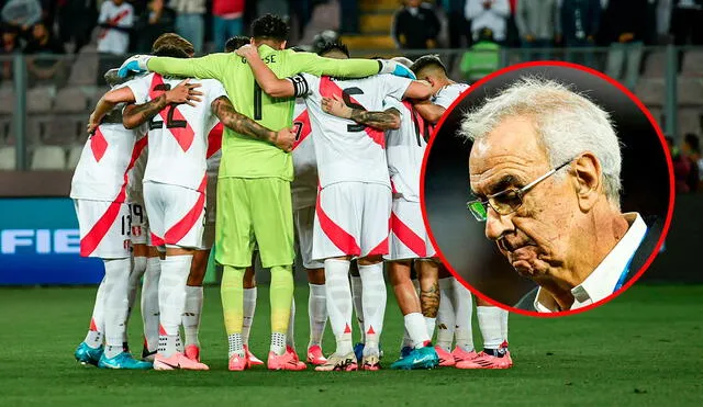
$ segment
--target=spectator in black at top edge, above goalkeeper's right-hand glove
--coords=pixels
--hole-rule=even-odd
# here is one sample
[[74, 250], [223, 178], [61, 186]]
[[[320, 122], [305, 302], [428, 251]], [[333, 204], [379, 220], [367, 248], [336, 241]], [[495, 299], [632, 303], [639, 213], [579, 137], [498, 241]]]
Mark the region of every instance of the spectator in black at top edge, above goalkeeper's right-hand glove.
[[404, 0], [393, 14], [391, 34], [398, 48], [435, 48], [440, 27], [432, 4], [421, 0]]

